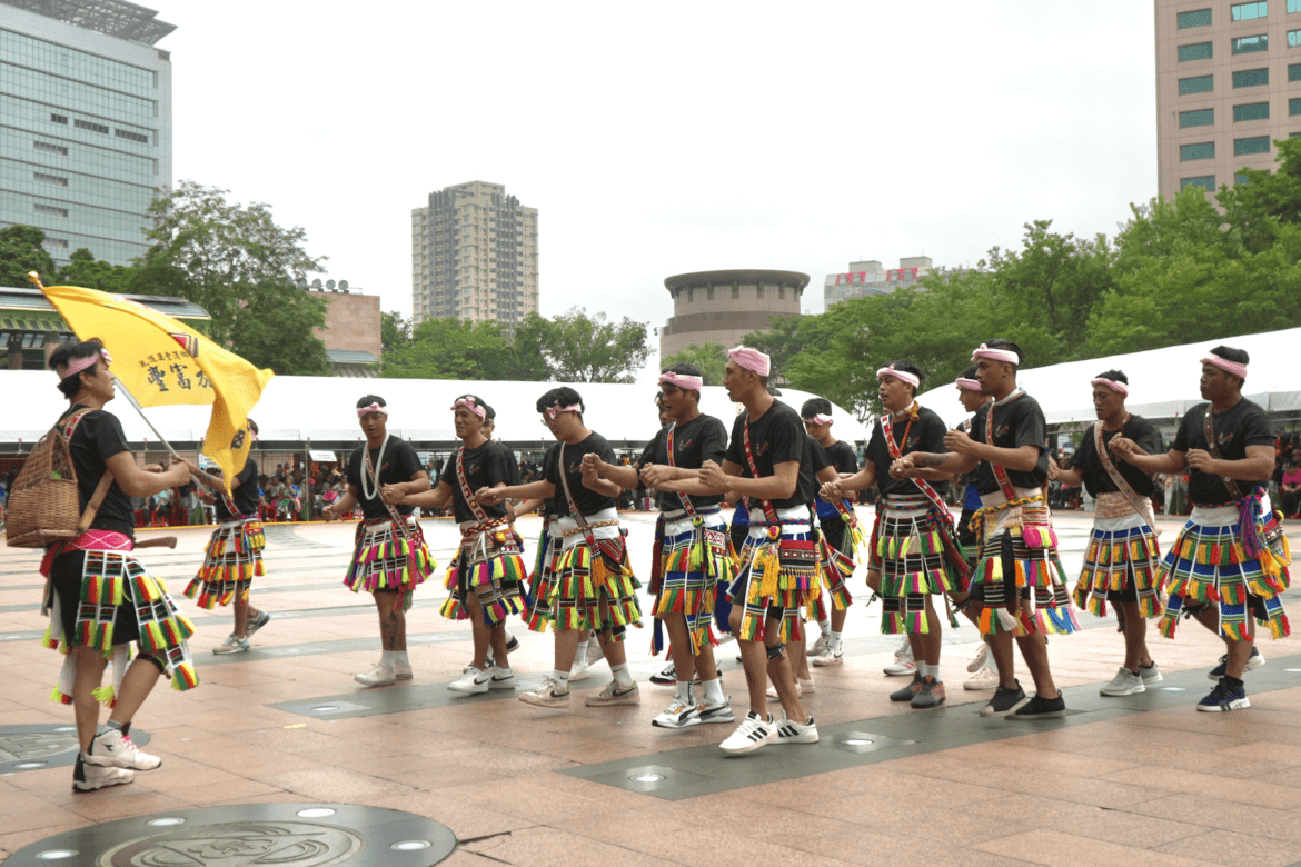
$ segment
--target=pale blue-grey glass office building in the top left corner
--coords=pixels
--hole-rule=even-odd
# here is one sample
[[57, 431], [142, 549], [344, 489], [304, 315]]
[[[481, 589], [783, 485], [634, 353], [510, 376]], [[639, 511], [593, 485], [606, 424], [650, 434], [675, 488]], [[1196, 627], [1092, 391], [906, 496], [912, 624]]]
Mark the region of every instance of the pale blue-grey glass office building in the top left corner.
[[85, 247], [144, 255], [154, 187], [172, 185], [176, 30], [124, 0], [0, 0], [0, 227], [46, 231], [57, 264]]

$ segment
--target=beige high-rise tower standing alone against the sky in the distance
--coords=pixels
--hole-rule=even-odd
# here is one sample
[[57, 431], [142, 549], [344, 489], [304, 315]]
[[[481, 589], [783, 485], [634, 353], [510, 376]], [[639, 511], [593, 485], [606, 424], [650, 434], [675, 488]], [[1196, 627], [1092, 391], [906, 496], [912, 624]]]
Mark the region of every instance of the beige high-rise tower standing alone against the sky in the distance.
[[537, 208], [471, 181], [411, 211], [411, 311], [514, 328], [537, 312]]

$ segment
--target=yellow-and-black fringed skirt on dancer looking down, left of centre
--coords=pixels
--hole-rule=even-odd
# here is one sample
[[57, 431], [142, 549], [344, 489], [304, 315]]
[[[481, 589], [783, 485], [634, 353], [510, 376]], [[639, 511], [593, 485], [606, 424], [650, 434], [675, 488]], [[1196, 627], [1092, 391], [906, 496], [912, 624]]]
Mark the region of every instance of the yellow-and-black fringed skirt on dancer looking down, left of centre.
[[561, 551], [552, 562], [550, 620], [554, 629], [591, 629], [622, 641], [628, 625], [641, 625], [637, 590], [619, 516], [613, 508], [557, 521]]

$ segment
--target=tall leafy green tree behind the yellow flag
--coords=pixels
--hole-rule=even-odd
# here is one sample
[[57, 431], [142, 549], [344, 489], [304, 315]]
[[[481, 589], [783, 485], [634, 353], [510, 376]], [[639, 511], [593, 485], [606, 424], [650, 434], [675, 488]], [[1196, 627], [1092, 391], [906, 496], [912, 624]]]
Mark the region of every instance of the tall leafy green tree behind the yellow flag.
[[282, 229], [271, 207], [226, 201], [226, 190], [182, 181], [150, 204], [154, 246], [138, 260], [133, 286], [174, 295], [212, 316], [211, 337], [258, 367], [281, 374], [324, 376], [325, 300], [298, 289], [324, 257], [303, 250], [307, 233]]

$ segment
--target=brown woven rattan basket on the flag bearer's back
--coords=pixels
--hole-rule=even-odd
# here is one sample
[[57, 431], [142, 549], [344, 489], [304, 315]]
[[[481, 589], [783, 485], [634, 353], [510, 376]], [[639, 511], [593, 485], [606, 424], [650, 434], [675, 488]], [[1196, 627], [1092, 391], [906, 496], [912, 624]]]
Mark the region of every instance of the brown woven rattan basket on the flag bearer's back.
[[5, 541], [22, 549], [65, 542], [77, 538], [79, 520], [77, 471], [56, 428], [40, 438], [13, 481]]

